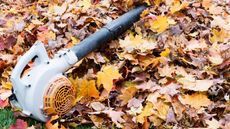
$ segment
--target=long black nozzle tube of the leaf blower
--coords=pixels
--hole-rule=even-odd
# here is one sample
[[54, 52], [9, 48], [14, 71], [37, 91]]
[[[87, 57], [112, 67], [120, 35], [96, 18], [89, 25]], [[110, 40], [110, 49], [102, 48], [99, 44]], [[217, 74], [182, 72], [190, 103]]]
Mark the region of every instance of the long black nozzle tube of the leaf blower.
[[90, 52], [94, 51], [102, 44], [116, 39], [119, 35], [129, 29], [133, 23], [140, 19], [140, 14], [147, 8], [147, 5], [141, 5], [135, 9], [125, 13], [121, 17], [105, 25], [102, 29], [90, 35], [79, 44], [71, 48], [75, 52], [78, 59], [84, 58]]

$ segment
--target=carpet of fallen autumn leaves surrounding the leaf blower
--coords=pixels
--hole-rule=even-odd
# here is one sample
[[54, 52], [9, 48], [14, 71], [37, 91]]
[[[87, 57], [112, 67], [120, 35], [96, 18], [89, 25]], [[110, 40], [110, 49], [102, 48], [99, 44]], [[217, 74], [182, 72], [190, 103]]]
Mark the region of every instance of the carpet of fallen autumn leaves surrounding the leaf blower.
[[[229, 129], [229, 0], [0, 0], [0, 107], [11, 107], [11, 71], [35, 41], [52, 57], [142, 3], [139, 22], [66, 72], [76, 106], [46, 128]], [[27, 128], [11, 110], [10, 128]]]

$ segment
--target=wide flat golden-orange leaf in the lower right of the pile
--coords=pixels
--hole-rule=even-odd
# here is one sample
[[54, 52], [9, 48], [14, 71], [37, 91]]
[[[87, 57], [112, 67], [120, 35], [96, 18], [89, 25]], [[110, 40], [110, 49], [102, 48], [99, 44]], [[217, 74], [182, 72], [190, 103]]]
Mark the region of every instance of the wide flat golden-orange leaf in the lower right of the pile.
[[179, 100], [182, 104], [190, 105], [196, 109], [203, 107], [207, 107], [212, 102], [208, 99], [208, 96], [202, 93], [194, 93], [192, 95], [183, 95], [179, 96]]

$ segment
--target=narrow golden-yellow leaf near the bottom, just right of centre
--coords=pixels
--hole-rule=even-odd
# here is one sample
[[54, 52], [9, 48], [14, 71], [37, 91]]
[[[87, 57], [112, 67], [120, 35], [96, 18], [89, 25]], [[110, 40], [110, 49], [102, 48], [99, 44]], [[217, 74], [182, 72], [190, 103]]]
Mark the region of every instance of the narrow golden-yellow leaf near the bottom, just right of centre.
[[144, 118], [153, 114], [153, 104], [148, 102], [140, 115], [137, 116], [137, 122], [143, 124]]

